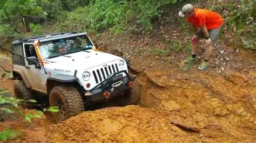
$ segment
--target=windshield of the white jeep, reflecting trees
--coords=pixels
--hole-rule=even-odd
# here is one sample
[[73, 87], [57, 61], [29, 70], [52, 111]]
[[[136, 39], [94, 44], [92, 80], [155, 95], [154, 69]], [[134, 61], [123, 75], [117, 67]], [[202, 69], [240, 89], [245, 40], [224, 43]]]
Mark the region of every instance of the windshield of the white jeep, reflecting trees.
[[92, 49], [92, 43], [86, 35], [43, 42], [39, 47], [43, 59], [50, 59], [87, 49]]

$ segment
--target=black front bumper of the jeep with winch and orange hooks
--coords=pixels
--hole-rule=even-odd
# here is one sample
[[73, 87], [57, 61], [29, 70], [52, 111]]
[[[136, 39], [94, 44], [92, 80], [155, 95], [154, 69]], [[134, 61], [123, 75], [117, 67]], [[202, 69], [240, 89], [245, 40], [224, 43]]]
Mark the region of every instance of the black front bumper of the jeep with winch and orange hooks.
[[[121, 73], [125, 73], [126, 76]], [[85, 103], [102, 101], [104, 99], [113, 98], [124, 94], [124, 92], [131, 88], [132, 82], [136, 76], [129, 75], [126, 70], [118, 71], [112, 74], [95, 88], [85, 92]]]

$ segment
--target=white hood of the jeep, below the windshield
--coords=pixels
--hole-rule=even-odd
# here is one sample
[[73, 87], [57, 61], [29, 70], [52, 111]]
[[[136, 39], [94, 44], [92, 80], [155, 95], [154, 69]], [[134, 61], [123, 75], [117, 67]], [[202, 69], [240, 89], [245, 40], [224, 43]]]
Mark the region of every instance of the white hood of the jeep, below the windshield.
[[48, 70], [54, 70], [58, 68], [71, 71], [77, 69], [78, 71], [80, 71], [103, 65], [104, 63], [115, 60], [122, 60], [122, 58], [112, 54], [96, 52], [91, 49], [87, 50], [86, 52], [81, 51], [48, 59], [48, 61], [51, 62], [46, 63], [45, 68]]

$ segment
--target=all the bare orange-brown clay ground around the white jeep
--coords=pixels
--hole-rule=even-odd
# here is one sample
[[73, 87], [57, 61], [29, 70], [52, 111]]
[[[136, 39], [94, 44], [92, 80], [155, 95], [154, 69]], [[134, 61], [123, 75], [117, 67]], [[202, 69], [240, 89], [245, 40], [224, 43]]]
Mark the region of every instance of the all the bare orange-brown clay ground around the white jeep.
[[[131, 54], [131, 72], [137, 75], [142, 86], [139, 105], [116, 107], [109, 103], [106, 106], [113, 107], [86, 111], [59, 124], [53, 123], [49, 116], [33, 120], [31, 124], [22, 119], [1, 124], [23, 131], [23, 135], [14, 140], [17, 142], [253, 142], [256, 139], [256, 71], [253, 68], [256, 54], [225, 49], [232, 50], [234, 52], [227, 56], [234, 61], [229, 69], [221, 72], [218, 67], [198, 71], [199, 62], [184, 71], [182, 59], [177, 65], [178, 60], [166, 63], [150, 53], [149, 56]], [[235, 59], [240, 60], [235, 62]], [[9, 59], [1, 58], [0, 64], [11, 70]], [[241, 68], [235, 69], [234, 65]], [[12, 92], [11, 80], [1, 77], [0, 83], [1, 88]], [[179, 127], [177, 122], [196, 131]]]

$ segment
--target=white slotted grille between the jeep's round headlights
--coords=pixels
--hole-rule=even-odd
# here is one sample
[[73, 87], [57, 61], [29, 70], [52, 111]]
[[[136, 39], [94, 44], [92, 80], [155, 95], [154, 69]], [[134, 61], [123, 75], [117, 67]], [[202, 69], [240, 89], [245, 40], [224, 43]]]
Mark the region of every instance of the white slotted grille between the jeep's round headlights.
[[104, 81], [110, 74], [118, 72], [117, 63], [110, 66], [105, 66], [103, 68], [93, 70], [92, 74], [95, 78], [96, 83]]

